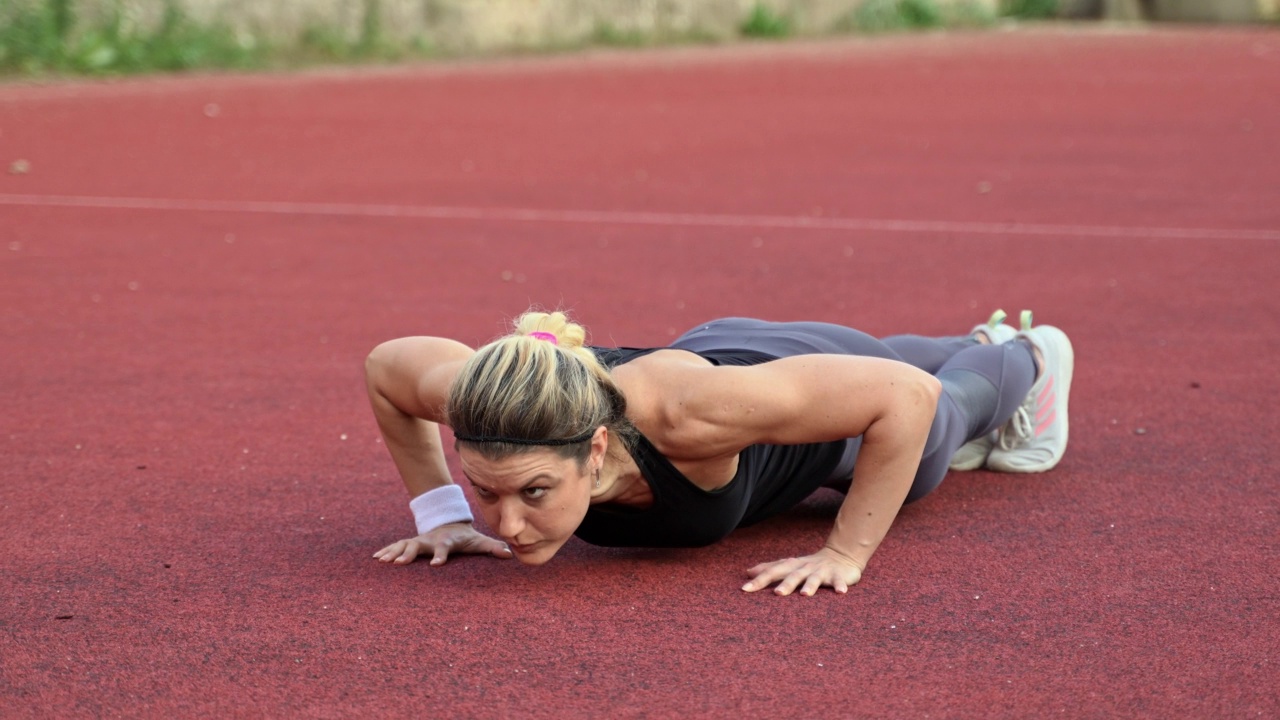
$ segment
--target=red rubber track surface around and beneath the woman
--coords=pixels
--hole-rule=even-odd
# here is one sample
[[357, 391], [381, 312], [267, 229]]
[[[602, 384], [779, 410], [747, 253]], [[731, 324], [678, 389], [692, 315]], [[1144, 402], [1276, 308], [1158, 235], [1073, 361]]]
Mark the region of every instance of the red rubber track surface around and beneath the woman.
[[[0, 86], [0, 716], [1276, 717], [1280, 33], [1034, 29]], [[704, 550], [384, 566], [378, 342], [1033, 307], [1044, 475], [847, 596]], [[451, 462], [454, 459], [451, 457]]]

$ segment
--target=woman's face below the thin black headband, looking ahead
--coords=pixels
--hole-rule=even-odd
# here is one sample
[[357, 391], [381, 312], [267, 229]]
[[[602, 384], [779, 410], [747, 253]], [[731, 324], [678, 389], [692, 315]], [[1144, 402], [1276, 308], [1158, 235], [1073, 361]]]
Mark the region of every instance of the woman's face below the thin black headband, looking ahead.
[[527, 565], [541, 565], [568, 542], [591, 503], [598, 457], [586, 464], [545, 448], [486, 460], [460, 448], [480, 515]]

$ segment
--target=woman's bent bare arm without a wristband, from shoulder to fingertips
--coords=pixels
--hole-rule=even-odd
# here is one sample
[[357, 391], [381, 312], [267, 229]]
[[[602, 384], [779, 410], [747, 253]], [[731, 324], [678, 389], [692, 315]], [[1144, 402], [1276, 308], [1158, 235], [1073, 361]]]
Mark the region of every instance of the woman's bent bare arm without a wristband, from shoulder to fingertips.
[[810, 568], [822, 565], [817, 556], [758, 565], [745, 589], [781, 580], [778, 592], [787, 594], [803, 582], [812, 594], [822, 584], [844, 592], [858, 582], [911, 488], [937, 410], [937, 379], [904, 363], [832, 355], [687, 374], [696, 379], [677, 386], [687, 388], [677, 413], [691, 432], [676, 441], [687, 452], [863, 436], [852, 487], [823, 550], [828, 560], [835, 556], [851, 568], [823, 575], [826, 570]]

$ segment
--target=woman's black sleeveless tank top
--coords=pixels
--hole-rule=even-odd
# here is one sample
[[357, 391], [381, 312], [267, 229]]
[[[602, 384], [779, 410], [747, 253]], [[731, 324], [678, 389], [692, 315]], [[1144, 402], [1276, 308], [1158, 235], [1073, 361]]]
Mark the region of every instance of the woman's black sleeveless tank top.
[[[664, 350], [593, 348], [607, 368]], [[713, 365], [758, 365], [776, 356], [753, 350], [696, 352]], [[704, 491], [680, 473], [640, 436], [632, 448], [640, 474], [653, 491], [644, 510], [593, 505], [577, 537], [608, 547], [701, 547], [735, 528], [759, 523], [790, 510], [831, 477], [846, 441], [810, 445], [753, 445], [739, 455], [737, 474], [716, 491]]]

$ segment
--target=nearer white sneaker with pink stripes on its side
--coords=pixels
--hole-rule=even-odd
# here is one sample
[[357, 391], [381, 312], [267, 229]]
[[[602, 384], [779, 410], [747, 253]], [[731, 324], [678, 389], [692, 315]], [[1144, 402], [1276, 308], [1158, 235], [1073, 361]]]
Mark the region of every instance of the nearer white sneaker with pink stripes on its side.
[[1066, 452], [1068, 396], [1075, 352], [1066, 333], [1052, 325], [1023, 331], [1018, 337], [1039, 350], [1044, 365], [1021, 407], [1000, 428], [987, 468], [1001, 473], [1043, 473]]

